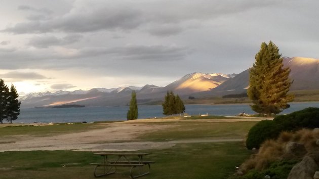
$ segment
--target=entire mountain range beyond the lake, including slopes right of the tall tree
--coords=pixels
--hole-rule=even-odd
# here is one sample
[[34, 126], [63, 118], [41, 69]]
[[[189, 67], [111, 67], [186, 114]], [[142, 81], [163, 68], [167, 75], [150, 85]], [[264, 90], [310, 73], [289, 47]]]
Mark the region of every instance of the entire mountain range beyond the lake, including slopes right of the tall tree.
[[[301, 57], [284, 57], [284, 67], [291, 69], [291, 90], [319, 89], [319, 60]], [[86, 106], [127, 105], [133, 90], [137, 92], [139, 104], [162, 101], [167, 91], [174, 91], [182, 99], [216, 97], [245, 93], [249, 87], [249, 69], [240, 74], [191, 73], [165, 87], [146, 84], [142, 87], [93, 88], [88, 91], [58, 91], [55, 93], [31, 93], [20, 97], [22, 108], [50, 107], [63, 104]]]

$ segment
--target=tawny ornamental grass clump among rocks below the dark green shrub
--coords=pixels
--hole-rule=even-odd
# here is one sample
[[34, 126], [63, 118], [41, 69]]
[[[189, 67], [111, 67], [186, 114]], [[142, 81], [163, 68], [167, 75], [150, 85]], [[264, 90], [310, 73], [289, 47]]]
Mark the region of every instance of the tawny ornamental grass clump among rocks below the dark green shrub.
[[[260, 146], [258, 153], [246, 160], [238, 170], [237, 174], [230, 178], [250, 179], [264, 178], [265, 175], [271, 178], [287, 178], [291, 168], [301, 161], [306, 154], [315, 153], [319, 147], [315, 144], [319, 138], [319, 131], [313, 129], [301, 129], [298, 131], [283, 131], [276, 140], [266, 140]], [[295, 142], [301, 148], [288, 150], [287, 144]], [[244, 175], [242, 175], [244, 174]]]

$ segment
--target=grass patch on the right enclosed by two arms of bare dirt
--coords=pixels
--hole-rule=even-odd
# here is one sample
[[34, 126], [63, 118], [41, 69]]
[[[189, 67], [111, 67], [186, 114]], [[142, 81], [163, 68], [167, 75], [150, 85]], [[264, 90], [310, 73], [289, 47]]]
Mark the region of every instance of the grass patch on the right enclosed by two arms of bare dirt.
[[[258, 121], [249, 122], [170, 122], [173, 127], [144, 133], [144, 141], [172, 141], [198, 138], [242, 139]], [[167, 125], [168, 123], [163, 123]]]

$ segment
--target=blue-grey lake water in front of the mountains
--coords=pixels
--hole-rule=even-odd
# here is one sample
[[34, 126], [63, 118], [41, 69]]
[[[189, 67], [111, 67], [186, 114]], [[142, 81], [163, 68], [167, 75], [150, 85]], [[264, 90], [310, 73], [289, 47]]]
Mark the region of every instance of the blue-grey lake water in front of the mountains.
[[[291, 107], [281, 114], [302, 110], [307, 107], [319, 107], [319, 102], [291, 103]], [[248, 104], [225, 105], [185, 105], [190, 115], [238, 115], [241, 112], [255, 114]], [[14, 123], [33, 122], [94, 122], [126, 120], [129, 106], [85, 107], [85, 108], [29, 108], [21, 109], [19, 118]], [[139, 119], [164, 117], [162, 106], [138, 106]], [[6, 122], [6, 121], [4, 121]]]

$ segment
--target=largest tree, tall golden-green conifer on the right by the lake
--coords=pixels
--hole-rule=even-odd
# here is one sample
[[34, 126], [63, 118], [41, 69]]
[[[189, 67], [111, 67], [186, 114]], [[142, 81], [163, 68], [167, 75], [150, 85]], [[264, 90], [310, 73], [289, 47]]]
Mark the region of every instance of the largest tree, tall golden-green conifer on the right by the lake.
[[260, 51], [255, 55], [255, 63], [250, 69], [248, 96], [254, 103], [252, 110], [267, 116], [278, 114], [289, 108], [293, 100], [288, 95], [292, 81], [289, 68], [283, 68], [283, 58], [278, 47], [269, 41], [261, 43]]

